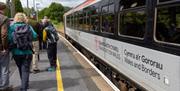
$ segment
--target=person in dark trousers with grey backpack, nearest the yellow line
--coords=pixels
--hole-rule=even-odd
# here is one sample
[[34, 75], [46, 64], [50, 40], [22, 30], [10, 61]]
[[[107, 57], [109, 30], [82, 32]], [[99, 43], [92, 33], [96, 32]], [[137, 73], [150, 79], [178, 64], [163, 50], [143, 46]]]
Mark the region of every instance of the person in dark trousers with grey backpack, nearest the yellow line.
[[44, 41], [47, 42], [47, 55], [50, 62], [48, 71], [53, 72], [56, 70], [56, 59], [57, 59], [57, 41], [59, 39], [58, 33], [50, 21], [45, 21], [45, 29], [47, 38]]

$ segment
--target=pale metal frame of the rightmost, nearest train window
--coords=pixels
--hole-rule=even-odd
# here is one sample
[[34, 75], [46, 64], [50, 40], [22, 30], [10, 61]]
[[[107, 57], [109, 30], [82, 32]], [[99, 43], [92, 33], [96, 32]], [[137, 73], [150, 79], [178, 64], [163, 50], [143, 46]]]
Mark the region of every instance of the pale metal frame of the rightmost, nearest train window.
[[[177, 1], [179, 2], [179, 1]], [[180, 43], [174, 43], [174, 42], [167, 42], [167, 41], [161, 41], [161, 40], [158, 40], [157, 39], [157, 36], [156, 36], [156, 33], [157, 33], [157, 16], [158, 16], [158, 9], [161, 9], [161, 8], [169, 8], [169, 7], [180, 7], [180, 3], [176, 4], [175, 1], [167, 1], [167, 2], [163, 2], [163, 3], [157, 3], [157, 6], [155, 7], [155, 18], [154, 18], [154, 32], [153, 32], [153, 39], [155, 42], [157, 43], [161, 43], [161, 44], [166, 44], [166, 45], [174, 45], [174, 46], [180, 46]]]

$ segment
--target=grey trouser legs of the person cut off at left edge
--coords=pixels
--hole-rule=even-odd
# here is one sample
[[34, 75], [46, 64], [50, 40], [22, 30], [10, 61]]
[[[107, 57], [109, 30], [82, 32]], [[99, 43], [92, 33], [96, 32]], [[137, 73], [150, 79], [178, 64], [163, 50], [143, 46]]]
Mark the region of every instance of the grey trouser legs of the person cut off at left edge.
[[9, 86], [9, 52], [0, 54], [0, 89]]

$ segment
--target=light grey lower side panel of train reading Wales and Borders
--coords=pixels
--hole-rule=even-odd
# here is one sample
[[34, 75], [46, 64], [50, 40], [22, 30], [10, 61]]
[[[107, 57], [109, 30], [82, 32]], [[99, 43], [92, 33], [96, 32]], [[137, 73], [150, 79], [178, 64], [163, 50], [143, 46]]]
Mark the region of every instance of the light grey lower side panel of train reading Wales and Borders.
[[149, 91], [180, 91], [180, 57], [66, 28], [66, 35]]

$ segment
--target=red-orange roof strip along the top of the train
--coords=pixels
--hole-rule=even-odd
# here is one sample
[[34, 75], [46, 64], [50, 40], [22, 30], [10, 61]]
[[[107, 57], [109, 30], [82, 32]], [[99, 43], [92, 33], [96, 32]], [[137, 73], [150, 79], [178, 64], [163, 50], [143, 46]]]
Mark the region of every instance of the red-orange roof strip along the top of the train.
[[87, 6], [90, 6], [90, 5], [92, 5], [92, 4], [96, 3], [96, 2], [99, 2], [99, 1], [101, 1], [101, 0], [86, 0], [86, 1], [83, 2], [82, 4], [76, 6], [75, 8], [69, 10], [68, 12], [66, 12], [66, 13], [64, 14], [64, 16], [69, 15], [69, 14], [71, 14], [71, 13], [73, 13], [73, 12], [78, 11], [78, 10], [81, 10], [81, 9], [83, 9], [83, 8], [85, 8], [85, 7], [87, 7]]

